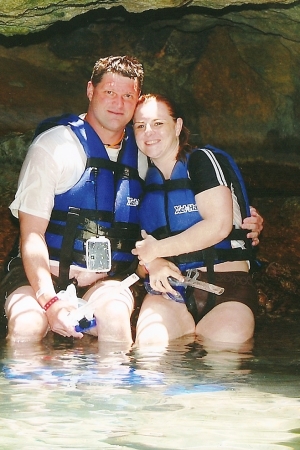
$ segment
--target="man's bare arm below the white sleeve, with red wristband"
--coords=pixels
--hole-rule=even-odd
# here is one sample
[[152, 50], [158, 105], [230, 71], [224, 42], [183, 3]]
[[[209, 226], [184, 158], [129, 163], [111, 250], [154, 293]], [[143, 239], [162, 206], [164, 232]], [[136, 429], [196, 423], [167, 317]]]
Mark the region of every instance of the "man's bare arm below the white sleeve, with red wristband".
[[[43, 308], [56, 296], [52, 283], [45, 232], [48, 220], [19, 211], [21, 256], [28, 281], [34, 292], [39, 292], [38, 303]], [[63, 336], [82, 337], [70, 324], [68, 313], [73, 309], [67, 301], [53, 303], [47, 310], [51, 329]]]

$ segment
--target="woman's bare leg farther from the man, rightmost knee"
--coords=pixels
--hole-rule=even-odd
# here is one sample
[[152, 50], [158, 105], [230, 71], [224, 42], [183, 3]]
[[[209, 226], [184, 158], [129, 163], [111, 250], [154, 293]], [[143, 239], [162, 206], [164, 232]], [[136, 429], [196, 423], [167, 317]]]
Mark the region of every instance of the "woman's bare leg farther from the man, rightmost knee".
[[236, 301], [215, 306], [196, 326], [196, 334], [215, 342], [240, 344], [253, 337], [255, 320], [251, 309]]

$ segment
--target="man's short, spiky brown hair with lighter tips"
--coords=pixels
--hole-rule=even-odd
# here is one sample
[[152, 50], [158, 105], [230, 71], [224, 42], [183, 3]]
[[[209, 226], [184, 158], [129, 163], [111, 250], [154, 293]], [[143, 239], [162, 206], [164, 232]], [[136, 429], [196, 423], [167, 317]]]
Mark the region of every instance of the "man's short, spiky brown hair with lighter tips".
[[123, 77], [136, 79], [139, 90], [142, 90], [144, 80], [144, 69], [142, 64], [132, 56], [107, 56], [96, 61], [91, 82], [93, 86], [97, 86], [105, 73], [112, 72], [122, 75]]

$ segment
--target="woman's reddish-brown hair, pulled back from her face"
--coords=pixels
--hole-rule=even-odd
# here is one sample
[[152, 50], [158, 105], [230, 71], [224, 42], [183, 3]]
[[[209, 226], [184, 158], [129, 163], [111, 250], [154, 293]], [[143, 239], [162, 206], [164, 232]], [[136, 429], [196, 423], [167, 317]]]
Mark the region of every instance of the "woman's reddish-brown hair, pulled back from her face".
[[[156, 100], [157, 102], [164, 103], [168, 108], [170, 116], [176, 121], [181, 115], [178, 113], [175, 104], [167, 97], [161, 94], [144, 94], [138, 99], [137, 107], [143, 103], [147, 103], [150, 100]], [[179, 135], [179, 149], [176, 156], [176, 160], [186, 160], [186, 154], [190, 153], [192, 146], [189, 144], [190, 131], [183, 124]]]

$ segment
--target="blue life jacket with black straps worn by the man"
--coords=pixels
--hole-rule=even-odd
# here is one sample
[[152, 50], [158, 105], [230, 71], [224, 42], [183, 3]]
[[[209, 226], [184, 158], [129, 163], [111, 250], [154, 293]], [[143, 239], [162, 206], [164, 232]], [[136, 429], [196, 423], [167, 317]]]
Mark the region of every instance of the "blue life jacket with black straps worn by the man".
[[36, 135], [57, 125], [72, 129], [87, 156], [80, 180], [55, 196], [45, 234], [50, 258], [60, 261], [60, 284], [68, 281], [71, 264], [86, 267], [85, 242], [94, 236], [110, 240], [109, 274], [123, 272], [135, 258], [131, 250], [140, 237], [138, 205], [143, 180], [138, 174], [133, 130], [126, 127], [118, 161], [113, 162], [94, 129], [78, 116], [47, 119], [39, 125]]

